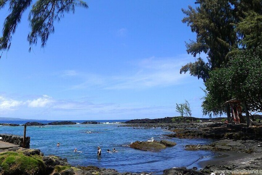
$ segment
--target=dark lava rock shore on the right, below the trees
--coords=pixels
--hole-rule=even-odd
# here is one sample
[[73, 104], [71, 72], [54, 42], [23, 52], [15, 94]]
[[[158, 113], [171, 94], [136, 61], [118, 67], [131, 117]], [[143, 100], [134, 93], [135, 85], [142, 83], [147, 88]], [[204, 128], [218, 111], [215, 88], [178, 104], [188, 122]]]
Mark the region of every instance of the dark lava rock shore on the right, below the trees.
[[200, 161], [200, 169], [197, 167], [170, 168], [164, 170], [163, 175], [210, 175], [217, 170], [228, 172], [242, 170], [245, 171], [245, 174], [257, 174], [257, 170], [262, 170], [262, 125], [258, 124], [252, 128], [246, 128], [245, 125], [226, 125], [223, 122], [224, 119], [216, 118], [215, 120], [201, 120], [201, 122], [197, 119], [191, 122], [184, 119], [182, 122], [173, 120], [172, 123], [163, 123], [170, 119], [131, 120], [121, 127], [133, 127], [134, 129], [161, 127], [171, 131], [172, 133], [165, 134], [165, 136], [172, 138], [217, 139], [209, 145], [186, 145], [185, 149], [214, 151], [220, 154], [218, 157]]

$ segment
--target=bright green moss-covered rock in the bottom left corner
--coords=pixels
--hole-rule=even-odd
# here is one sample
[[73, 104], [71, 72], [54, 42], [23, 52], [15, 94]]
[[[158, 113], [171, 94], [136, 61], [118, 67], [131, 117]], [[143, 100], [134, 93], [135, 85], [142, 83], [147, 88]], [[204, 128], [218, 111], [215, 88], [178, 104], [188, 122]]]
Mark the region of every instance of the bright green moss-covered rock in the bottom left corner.
[[0, 153], [0, 167], [2, 175], [31, 175], [45, 174], [43, 160], [38, 156], [27, 156], [22, 152], [6, 151]]

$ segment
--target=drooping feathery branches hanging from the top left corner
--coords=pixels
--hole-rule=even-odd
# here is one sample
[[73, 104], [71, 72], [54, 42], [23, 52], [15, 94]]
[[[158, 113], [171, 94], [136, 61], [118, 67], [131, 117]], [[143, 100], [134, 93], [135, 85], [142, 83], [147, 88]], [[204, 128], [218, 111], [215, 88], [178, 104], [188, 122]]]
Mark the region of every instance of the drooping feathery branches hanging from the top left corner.
[[9, 50], [12, 35], [15, 33], [17, 25], [20, 23], [23, 13], [32, 6], [29, 13], [29, 24], [31, 31], [27, 40], [32, 45], [37, 44], [38, 38], [41, 46], [44, 47], [49, 35], [54, 33], [54, 21], [59, 21], [65, 13], [72, 11], [75, 7], [88, 8], [87, 3], [81, 0], [37, 0], [32, 4], [32, 0], [0, 0], [0, 10], [9, 6], [9, 14], [3, 24], [3, 33], [0, 37], [0, 50]]

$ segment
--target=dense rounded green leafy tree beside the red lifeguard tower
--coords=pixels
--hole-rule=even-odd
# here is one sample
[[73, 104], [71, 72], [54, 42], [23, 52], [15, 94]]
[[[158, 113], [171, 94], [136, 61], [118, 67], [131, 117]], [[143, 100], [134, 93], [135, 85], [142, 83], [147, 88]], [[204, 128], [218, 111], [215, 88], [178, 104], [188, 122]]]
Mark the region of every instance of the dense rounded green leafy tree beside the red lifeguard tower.
[[227, 68], [210, 72], [206, 81], [208, 93], [202, 103], [203, 113], [221, 115], [225, 112], [225, 101], [242, 100], [247, 121], [249, 112], [262, 112], [262, 46], [239, 51]]

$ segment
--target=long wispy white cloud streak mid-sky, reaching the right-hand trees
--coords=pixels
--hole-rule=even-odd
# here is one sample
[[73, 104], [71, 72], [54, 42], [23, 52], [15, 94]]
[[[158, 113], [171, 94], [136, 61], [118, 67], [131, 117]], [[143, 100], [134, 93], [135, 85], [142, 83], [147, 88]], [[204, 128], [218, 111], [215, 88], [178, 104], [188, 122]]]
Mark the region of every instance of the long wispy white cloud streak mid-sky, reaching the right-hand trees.
[[189, 74], [180, 74], [180, 68], [192, 59], [190, 55], [178, 57], [142, 59], [134, 64], [127, 65], [127, 72], [122, 75], [98, 75], [78, 72], [82, 83], [72, 85], [69, 89], [95, 88], [107, 90], [144, 89], [157, 86], [177, 85], [186, 82]]

